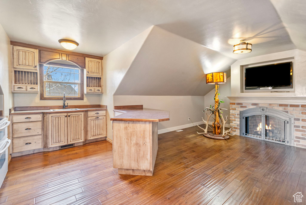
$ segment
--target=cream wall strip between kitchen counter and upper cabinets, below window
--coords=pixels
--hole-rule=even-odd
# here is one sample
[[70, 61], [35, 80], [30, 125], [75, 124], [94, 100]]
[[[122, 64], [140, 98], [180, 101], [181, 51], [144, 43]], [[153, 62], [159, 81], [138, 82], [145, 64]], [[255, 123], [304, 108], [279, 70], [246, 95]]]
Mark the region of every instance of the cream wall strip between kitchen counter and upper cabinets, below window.
[[[63, 105], [62, 100], [39, 100], [39, 103], [35, 103], [35, 98], [40, 99], [39, 93], [14, 93], [14, 107], [24, 106], [52, 106]], [[81, 105], [81, 104], [100, 104], [101, 94], [84, 94], [84, 100], [67, 100], [69, 105]]]

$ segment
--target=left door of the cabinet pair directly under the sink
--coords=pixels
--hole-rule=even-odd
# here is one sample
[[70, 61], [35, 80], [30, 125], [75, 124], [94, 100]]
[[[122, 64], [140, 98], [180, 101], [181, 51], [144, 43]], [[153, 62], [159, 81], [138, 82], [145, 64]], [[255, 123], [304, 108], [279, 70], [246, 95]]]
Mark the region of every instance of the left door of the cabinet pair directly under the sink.
[[49, 147], [67, 144], [67, 113], [49, 114]]

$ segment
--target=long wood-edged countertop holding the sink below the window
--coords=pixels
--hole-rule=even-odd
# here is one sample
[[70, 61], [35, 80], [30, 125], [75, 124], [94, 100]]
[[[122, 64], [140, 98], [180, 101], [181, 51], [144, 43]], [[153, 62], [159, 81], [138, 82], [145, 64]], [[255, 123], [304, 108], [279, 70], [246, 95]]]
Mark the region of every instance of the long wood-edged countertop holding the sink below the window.
[[[69, 108], [74, 108], [73, 105]], [[67, 109], [69, 109], [67, 108]], [[50, 108], [54, 109], [54, 108]], [[65, 112], [85, 112], [85, 111], [96, 111], [96, 110], [107, 110], [107, 108], [79, 108], [79, 110], [61, 110], [61, 111], [51, 111], [50, 109], [43, 110], [21, 110], [21, 111], [11, 111], [10, 115], [22, 115], [22, 114], [51, 114], [51, 113], [65, 113]]]

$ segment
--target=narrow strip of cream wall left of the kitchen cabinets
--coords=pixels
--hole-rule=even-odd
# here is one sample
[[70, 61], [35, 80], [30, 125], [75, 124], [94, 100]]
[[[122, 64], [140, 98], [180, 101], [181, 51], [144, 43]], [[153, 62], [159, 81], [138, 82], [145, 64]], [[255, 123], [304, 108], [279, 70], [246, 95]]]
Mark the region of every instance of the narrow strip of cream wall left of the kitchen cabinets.
[[9, 108], [13, 107], [11, 93], [11, 46], [9, 37], [0, 25], [0, 85], [4, 94], [4, 115], [9, 115]]

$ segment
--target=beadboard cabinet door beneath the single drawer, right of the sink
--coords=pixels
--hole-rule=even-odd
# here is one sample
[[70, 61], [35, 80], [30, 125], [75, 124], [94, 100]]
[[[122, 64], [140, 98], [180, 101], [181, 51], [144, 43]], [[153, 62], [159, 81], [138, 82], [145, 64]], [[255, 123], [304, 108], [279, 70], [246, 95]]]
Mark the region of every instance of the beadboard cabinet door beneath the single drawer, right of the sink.
[[88, 139], [106, 136], [105, 116], [88, 117]]

